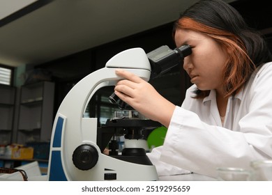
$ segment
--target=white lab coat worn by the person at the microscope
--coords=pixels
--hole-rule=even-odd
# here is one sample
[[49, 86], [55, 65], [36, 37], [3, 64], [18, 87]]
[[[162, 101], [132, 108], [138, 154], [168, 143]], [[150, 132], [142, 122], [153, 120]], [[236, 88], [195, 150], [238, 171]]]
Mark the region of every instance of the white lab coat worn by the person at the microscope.
[[252, 160], [272, 158], [272, 62], [229, 98], [224, 125], [216, 92], [204, 100], [190, 98], [195, 88], [188, 88], [174, 110], [164, 145], [149, 154], [159, 176], [189, 170], [216, 178], [217, 167], [249, 169]]

